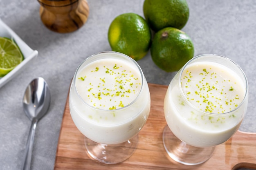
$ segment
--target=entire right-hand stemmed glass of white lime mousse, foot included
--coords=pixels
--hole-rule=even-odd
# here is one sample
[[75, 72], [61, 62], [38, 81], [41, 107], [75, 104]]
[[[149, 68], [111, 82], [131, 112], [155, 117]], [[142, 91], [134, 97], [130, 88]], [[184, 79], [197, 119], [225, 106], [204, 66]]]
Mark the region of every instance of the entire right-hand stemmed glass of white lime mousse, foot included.
[[248, 104], [243, 70], [227, 57], [200, 55], [187, 62], [168, 86], [164, 148], [177, 162], [207, 161], [215, 146], [240, 127]]

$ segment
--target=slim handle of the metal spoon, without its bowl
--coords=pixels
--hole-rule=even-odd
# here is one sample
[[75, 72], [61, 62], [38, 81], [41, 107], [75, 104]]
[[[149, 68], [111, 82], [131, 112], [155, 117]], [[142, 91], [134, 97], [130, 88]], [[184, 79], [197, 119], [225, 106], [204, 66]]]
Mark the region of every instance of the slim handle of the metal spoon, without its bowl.
[[27, 144], [26, 144], [26, 151], [25, 151], [26, 155], [25, 155], [21, 170], [30, 170], [32, 149], [33, 149], [37, 122], [38, 122], [38, 119], [33, 119], [31, 122], [29, 136], [27, 138]]

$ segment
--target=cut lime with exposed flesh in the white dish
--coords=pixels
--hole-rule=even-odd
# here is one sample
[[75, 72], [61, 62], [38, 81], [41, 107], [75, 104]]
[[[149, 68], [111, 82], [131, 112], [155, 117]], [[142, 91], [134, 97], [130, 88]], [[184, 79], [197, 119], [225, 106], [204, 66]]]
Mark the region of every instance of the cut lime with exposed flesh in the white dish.
[[18, 45], [9, 38], [0, 37], [0, 77], [7, 75], [23, 60]]

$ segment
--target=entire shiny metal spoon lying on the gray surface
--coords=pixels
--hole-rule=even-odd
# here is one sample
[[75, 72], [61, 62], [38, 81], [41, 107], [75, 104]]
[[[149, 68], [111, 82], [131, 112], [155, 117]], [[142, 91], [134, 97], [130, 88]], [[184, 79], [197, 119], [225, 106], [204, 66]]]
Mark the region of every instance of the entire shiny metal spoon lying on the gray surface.
[[47, 82], [42, 77], [33, 79], [27, 86], [23, 97], [23, 108], [27, 117], [31, 120], [31, 126], [27, 139], [22, 170], [30, 169], [36, 125], [47, 113], [49, 105], [50, 91]]

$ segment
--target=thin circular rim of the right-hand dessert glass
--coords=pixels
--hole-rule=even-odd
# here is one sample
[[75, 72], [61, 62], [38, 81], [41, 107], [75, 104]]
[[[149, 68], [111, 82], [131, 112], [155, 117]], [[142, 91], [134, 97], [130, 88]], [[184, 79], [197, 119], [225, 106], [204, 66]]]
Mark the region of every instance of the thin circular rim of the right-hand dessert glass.
[[[182, 90], [182, 86], [181, 86], [181, 78], [182, 78], [182, 73], [184, 72], [184, 69], [195, 59], [198, 59], [200, 57], [203, 57], [203, 56], [207, 56], [207, 55], [211, 55], [211, 56], [218, 56], [218, 57], [222, 57], [224, 58], [225, 60], [228, 60], [229, 62], [231, 62], [232, 64], [234, 64], [234, 66], [236, 66], [240, 71], [241, 73], [243, 74], [243, 78], [245, 79], [245, 95], [243, 96], [243, 100], [242, 102], [233, 110], [230, 110], [228, 112], [224, 112], [224, 113], [209, 113], [209, 112], [205, 112], [203, 110], [199, 110], [197, 107], [195, 107], [186, 97], [186, 95], [184, 94], [184, 91]], [[186, 64], [180, 69], [180, 76], [179, 76], [179, 88], [180, 88], [180, 91], [181, 91], [181, 95], [182, 97], [184, 98], [185, 102], [188, 103], [192, 108], [194, 108], [195, 110], [197, 110], [198, 112], [201, 112], [205, 115], [214, 115], [214, 116], [222, 116], [222, 115], [228, 115], [230, 113], [233, 113], [234, 111], [238, 110], [238, 108], [240, 108], [243, 103], [245, 102], [246, 98], [247, 98], [247, 95], [248, 95], [248, 80], [247, 80], [247, 77], [244, 73], [244, 71], [242, 70], [242, 68], [240, 66], [238, 66], [238, 64], [236, 64], [236, 62], [234, 62], [233, 60], [229, 59], [228, 57], [225, 57], [223, 55], [218, 55], [218, 54], [202, 54], [202, 55], [198, 55], [196, 57], [193, 57], [191, 60], [189, 60], [188, 62], [186, 62]]]

